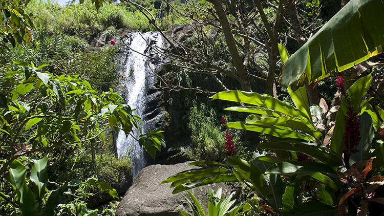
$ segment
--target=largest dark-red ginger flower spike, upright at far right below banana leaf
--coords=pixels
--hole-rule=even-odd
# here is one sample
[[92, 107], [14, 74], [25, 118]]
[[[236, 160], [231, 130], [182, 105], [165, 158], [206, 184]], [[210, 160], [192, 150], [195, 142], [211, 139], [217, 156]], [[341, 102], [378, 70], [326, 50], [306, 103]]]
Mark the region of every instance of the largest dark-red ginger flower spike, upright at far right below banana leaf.
[[360, 123], [358, 121], [358, 113], [353, 112], [353, 109], [349, 107], [346, 116], [346, 128], [345, 128], [345, 143], [347, 149], [344, 149], [345, 154], [358, 152], [356, 149], [360, 142]]

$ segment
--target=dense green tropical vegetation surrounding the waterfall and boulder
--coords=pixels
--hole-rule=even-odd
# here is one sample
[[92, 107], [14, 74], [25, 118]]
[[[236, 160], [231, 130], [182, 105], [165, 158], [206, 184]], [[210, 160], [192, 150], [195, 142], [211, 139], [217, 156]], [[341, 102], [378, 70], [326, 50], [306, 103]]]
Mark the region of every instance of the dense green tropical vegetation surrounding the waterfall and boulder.
[[[180, 127], [202, 167], [163, 183], [241, 185], [238, 202], [209, 190], [206, 212], [189, 191], [194, 215], [382, 214], [381, 1], [336, 15], [344, 1], [80, 2], [1, 2], [0, 214], [114, 214], [115, 203], [90, 208], [131, 178], [112, 133], [141, 133], [116, 91], [119, 37], [172, 24], [189, 29], [166, 37], [163, 90], [183, 97]], [[165, 147], [162, 131], [138, 142], [154, 159]]]

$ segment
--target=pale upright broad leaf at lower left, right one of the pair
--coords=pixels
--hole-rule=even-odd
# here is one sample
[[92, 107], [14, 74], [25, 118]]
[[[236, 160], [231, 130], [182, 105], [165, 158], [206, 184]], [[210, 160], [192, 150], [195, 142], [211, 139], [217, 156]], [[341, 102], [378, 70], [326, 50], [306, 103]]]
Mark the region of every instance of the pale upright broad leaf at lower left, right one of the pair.
[[47, 165], [47, 157], [41, 158], [40, 160], [33, 160], [30, 179], [37, 186], [37, 197], [40, 199], [44, 197], [48, 183]]

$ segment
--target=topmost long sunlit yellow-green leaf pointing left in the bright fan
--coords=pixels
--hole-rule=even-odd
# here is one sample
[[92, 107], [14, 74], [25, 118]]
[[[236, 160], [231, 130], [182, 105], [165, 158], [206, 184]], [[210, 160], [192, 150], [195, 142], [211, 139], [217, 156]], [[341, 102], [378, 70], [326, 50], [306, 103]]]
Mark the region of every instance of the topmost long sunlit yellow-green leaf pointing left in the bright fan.
[[294, 116], [298, 118], [308, 118], [303, 112], [297, 110], [292, 105], [278, 100], [269, 95], [261, 95], [255, 92], [242, 92], [242, 91], [225, 91], [219, 92], [211, 97], [212, 99], [228, 100], [240, 103], [248, 103], [251, 105], [261, 106], [267, 109]]

